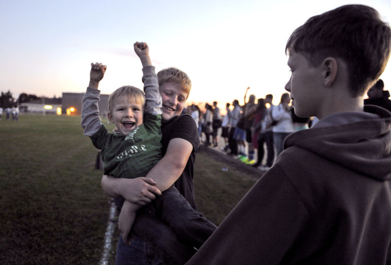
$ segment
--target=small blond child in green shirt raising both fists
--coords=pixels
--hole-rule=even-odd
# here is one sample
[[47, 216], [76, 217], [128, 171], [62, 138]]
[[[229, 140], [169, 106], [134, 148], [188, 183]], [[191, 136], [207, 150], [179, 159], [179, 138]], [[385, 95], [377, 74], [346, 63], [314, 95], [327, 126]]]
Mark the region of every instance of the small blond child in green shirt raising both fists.
[[[101, 149], [104, 174], [117, 178], [146, 176], [162, 157], [160, 143], [162, 98], [158, 91], [157, 77], [149, 58], [147, 44], [136, 42], [134, 50], [143, 64], [145, 96], [143, 91], [133, 86], [120, 87], [110, 95], [108, 118], [110, 122], [115, 123], [118, 132], [108, 133], [99, 118], [98, 85], [106, 66], [92, 64], [90, 85], [82, 103], [84, 135], [90, 136], [94, 146]], [[199, 248], [216, 226], [195, 212], [187, 200], [168, 193], [179, 194], [174, 187], [171, 187], [159, 198], [159, 200], [168, 200], [158, 204], [163, 207], [159, 209], [159, 212], [162, 212], [161, 217], [185, 243]], [[128, 201], [126, 203], [126, 210], [122, 208], [118, 221], [125, 242], [128, 241], [136, 211], [140, 208], [138, 204]], [[171, 211], [169, 209], [171, 207], [180, 209], [181, 211], [177, 212], [184, 215], [182, 218], [187, 219], [188, 222], [178, 223], [179, 218], [164, 214], [165, 211]], [[198, 225], [197, 229], [195, 225]]]

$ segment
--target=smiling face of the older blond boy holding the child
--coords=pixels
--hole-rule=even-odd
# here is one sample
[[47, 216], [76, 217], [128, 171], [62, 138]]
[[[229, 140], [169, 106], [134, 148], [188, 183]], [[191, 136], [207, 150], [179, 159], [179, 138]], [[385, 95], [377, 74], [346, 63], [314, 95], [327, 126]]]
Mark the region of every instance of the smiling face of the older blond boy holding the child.
[[162, 119], [168, 121], [181, 114], [185, 107], [187, 93], [182, 90], [179, 84], [168, 82], [159, 86], [162, 96]]

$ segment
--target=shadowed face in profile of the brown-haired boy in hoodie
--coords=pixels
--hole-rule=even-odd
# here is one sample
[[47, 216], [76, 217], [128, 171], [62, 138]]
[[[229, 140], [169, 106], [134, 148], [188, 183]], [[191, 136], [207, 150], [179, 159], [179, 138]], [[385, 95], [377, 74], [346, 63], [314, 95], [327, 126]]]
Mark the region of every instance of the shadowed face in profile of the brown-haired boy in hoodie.
[[321, 90], [318, 89], [322, 79], [321, 67], [310, 66], [304, 55], [290, 51], [288, 66], [291, 69], [291, 78], [285, 89], [291, 93], [292, 106], [299, 117], [316, 116], [321, 104]]

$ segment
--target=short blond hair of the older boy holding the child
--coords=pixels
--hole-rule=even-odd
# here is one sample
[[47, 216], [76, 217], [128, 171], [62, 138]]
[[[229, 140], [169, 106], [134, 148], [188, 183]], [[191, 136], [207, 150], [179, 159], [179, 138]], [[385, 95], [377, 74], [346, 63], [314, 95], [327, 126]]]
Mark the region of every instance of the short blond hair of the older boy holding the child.
[[182, 91], [187, 93], [186, 99], [189, 97], [190, 90], [191, 90], [191, 81], [189, 76], [180, 69], [177, 69], [175, 67], [169, 67], [163, 70], [160, 70], [157, 73], [157, 79], [159, 86], [161, 86], [163, 83], [175, 83], [181, 86]]

